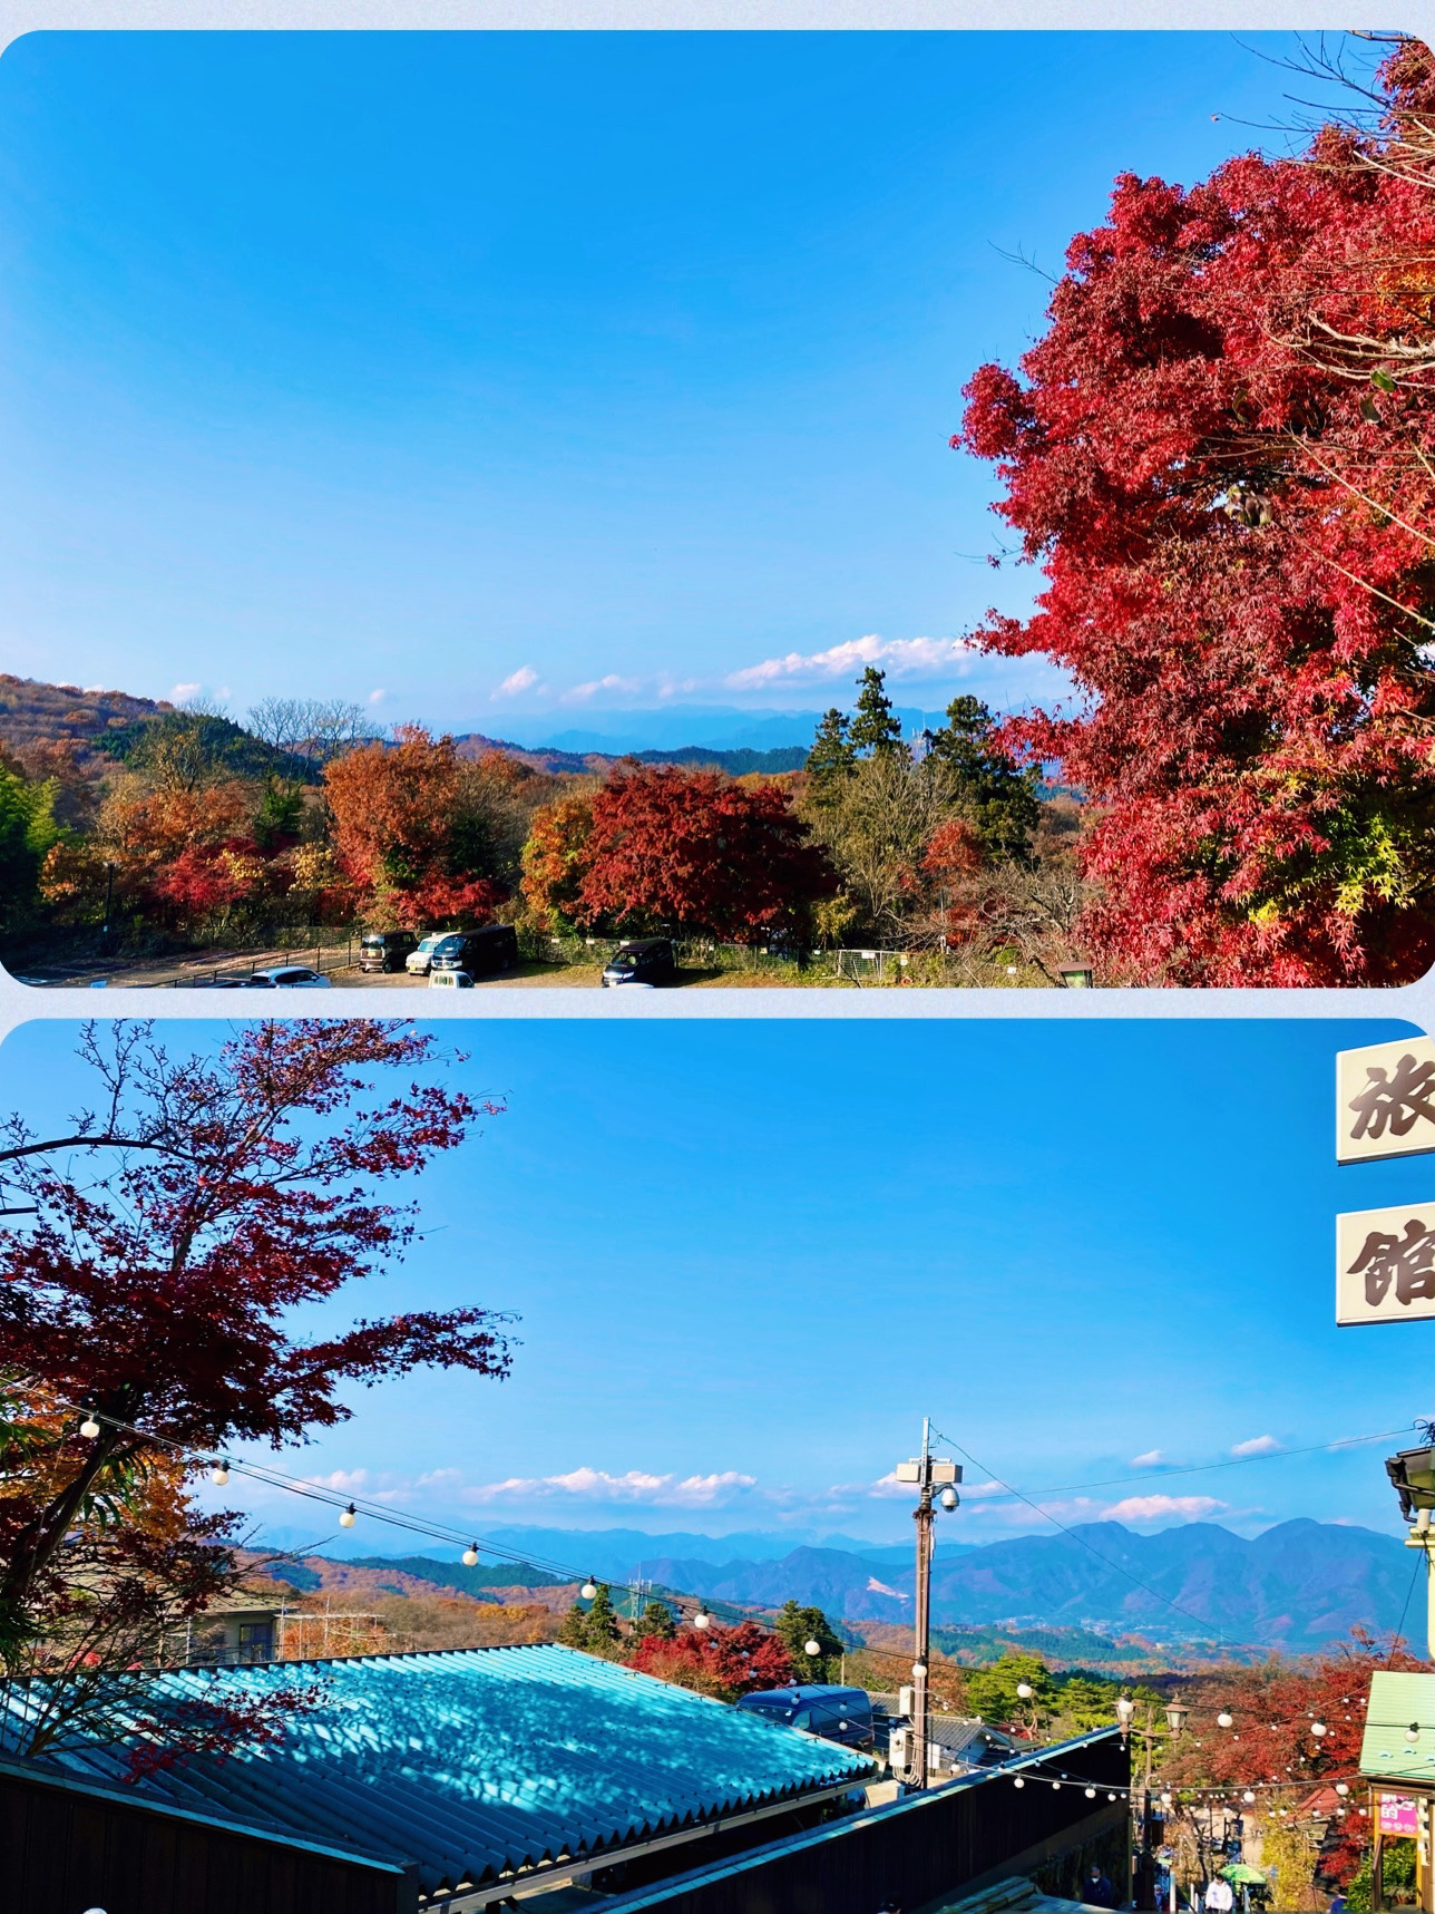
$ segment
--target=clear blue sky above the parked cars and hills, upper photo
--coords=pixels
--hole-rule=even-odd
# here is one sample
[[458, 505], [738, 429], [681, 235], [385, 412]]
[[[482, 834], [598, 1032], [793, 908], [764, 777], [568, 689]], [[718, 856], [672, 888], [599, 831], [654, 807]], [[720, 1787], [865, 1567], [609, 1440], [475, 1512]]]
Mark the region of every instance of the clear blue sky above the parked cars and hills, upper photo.
[[[532, 737], [1050, 695], [960, 387], [1257, 34], [31, 34], [0, 59], [0, 651]], [[1267, 56], [1267, 57], [1261, 57]], [[1217, 117], [1221, 115], [1221, 117]], [[503, 689], [507, 687], [507, 689]]]

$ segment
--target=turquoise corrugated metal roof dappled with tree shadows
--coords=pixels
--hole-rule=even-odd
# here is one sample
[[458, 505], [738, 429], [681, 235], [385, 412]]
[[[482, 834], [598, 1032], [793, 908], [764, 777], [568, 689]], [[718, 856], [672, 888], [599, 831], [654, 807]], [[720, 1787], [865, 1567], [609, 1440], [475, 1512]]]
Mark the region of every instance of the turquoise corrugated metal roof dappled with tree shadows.
[[[874, 1763], [559, 1646], [272, 1663], [157, 1677], [161, 1694], [329, 1684], [277, 1747], [193, 1759], [145, 1792], [304, 1839], [417, 1860], [425, 1893], [599, 1857], [798, 1797]], [[96, 1747], [65, 1765], [115, 1772]]]

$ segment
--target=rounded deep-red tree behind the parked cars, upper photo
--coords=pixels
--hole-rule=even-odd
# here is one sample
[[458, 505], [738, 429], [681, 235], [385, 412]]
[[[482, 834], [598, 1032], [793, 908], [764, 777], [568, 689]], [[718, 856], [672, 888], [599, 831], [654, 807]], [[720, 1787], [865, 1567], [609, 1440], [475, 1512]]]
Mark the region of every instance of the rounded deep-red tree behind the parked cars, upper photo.
[[752, 944], [800, 928], [836, 890], [777, 785], [721, 771], [620, 766], [593, 794], [574, 915], [614, 928], [708, 932]]

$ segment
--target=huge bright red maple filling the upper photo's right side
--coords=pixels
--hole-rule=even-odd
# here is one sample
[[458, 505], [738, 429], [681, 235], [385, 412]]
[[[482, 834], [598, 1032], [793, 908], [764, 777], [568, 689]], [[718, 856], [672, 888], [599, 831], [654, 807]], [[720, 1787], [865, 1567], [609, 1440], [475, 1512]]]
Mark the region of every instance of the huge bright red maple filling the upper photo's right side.
[[[1404, 358], [1435, 345], [1435, 178], [1380, 165], [1429, 124], [1435, 61], [1408, 42], [1383, 84], [1376, 134], [1188, 191], [1123, 174], [1022, 379], [966, 387], [953, 444], [997, 463], [1047, 580], [980, 639], [1081, 693], [1004, 737], [1098, 808], [1083, 932], [1114, 976], [1397, 982], [1435, 957], [1435, 375]], [[1332, 337], [1374, 341], [1374, 385]]]

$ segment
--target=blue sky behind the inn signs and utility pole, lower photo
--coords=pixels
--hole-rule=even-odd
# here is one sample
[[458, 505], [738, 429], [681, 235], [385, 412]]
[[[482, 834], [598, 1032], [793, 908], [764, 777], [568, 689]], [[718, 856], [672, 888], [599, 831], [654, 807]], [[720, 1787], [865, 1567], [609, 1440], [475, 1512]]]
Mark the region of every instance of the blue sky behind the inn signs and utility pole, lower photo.
[[[517, 1309], [515, 1374], [356, 1391], [295, 1474], [476, 1531], [903, 1541], [882, 1478], [930, 1413], [1064, 1522], [1395, 1527], [1391, 1443], [1167, 1470], [1435, 1413], [1435, 1326], [1334, 1324], [1334, 1215], [1429, 1196], [1427, 1158], [1336, 1168], [1334, 1053], [1408, 1026], [440, 1030], [471, 1051], [455, 1078], [509, 1108], [417, 1183], [423, 1240], [352, 1313]], [[0, 1108], [78, 1106], [73, 1041], [11, 1034]], [[1043, 1527], [968, 1480], [953, 1539]]]

